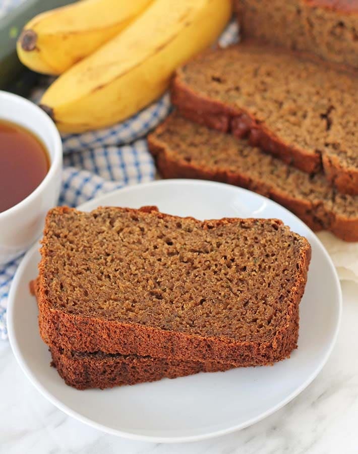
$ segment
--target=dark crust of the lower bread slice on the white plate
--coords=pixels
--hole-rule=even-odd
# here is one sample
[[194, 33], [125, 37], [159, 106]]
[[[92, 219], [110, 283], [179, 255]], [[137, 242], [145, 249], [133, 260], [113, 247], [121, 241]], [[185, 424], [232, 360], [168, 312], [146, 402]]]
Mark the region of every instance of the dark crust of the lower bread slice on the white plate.
[[64, 352], [56, 347], [49, 350], [51, 365], [66, 384], [77, 389], [104, 389], [233, 368], [221, 363], [168, 361], [150, 356]]

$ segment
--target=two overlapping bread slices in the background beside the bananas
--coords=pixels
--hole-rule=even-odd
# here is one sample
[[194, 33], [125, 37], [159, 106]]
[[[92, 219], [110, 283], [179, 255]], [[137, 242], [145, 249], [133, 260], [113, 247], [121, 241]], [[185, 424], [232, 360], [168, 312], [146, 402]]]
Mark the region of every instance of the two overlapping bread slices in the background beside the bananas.
[[[255, 2], [238, 3], [243, 15]], [[289, 3], [275, 2], [284, 11]], [[178, 70], [171, 97], [180, 113], [148, 140], [164, 178], [243, 186], [316, 231], [358, 241], [356, 72], [244, 40]]]

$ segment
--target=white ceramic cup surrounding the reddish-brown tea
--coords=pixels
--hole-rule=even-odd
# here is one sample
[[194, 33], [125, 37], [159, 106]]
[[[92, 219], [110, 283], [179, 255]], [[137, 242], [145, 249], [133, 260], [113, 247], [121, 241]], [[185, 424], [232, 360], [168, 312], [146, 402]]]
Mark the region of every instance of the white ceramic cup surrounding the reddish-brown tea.
[[39, 186], [24, 200], [0, 213], [0, 264], [5, 264], [39, 238], [47, 211], [57, 203], [61, 188], [62, 142], [57, 128], [43, 110], [21, 96], [0, 90], [1, 120], [33, 132], [45, 145], [50, 160], [48, 173]]

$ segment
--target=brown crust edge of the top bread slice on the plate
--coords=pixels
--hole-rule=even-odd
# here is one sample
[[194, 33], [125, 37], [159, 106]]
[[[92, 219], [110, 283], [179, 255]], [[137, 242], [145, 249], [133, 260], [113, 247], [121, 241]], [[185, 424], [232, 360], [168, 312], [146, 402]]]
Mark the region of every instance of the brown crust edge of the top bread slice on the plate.
[[[62, 209], [66, 211], [69, 208], [58, 208]], [[168, 216], [162, 213], [160, 215]], [[208, 222], [222, 224], [230, 222], [230, 219]], [[202, 336], [134, 322], [125, 323], [66, 313], [51, 306], [48, 301], [41, 261], [38, 279], [40, 334], [47, 345], [68, 351], [101, 351], [194, 362], [215, 361], [233, 366], [272, 364], [289, 357], [297, 346], [299, 304], [306, 286], [310, 258], [311, 247], [308, 241], [305, 241], [300, 250], [295, 281], [286, 303], [286, 318], [267, 342], [239, 342], [224, 337]], [[32, 290], [34, 285], [33, 283]]]

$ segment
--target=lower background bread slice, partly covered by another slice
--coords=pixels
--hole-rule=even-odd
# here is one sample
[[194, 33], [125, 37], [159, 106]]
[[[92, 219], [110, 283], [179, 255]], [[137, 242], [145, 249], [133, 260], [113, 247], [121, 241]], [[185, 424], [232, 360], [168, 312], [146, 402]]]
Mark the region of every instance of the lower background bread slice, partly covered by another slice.
[[269, 197], [313, 230], [358, 241], [358, 196], [337, 194], [322, 174], [310, 176], [252, 147], [173, 113], [148, 137], [163, 178], [220, 181]]

